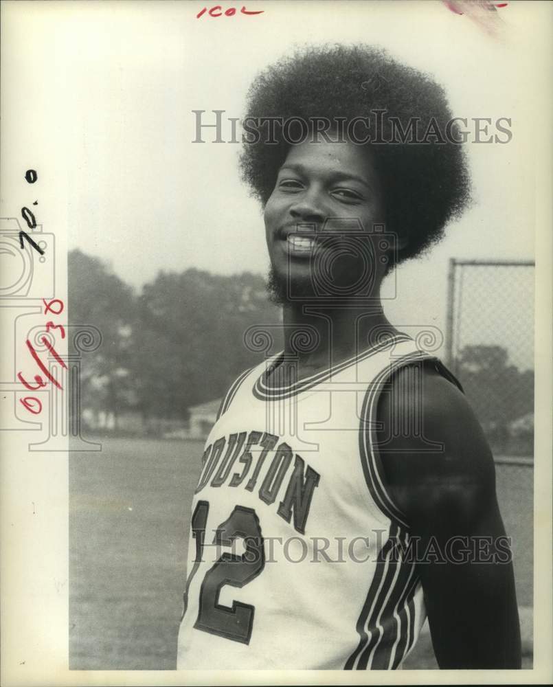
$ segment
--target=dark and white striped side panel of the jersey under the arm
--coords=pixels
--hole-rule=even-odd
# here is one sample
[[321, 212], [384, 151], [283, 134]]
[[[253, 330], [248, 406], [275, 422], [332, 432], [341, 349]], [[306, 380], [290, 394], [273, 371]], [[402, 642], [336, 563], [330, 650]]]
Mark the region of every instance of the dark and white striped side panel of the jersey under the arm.
[[346, 670], [396, 668], [414, 641], [414, 594], [418, 588], [415, 563], [403, 560], [407, 532], [392, 523], [359, 619], [359, 644], [346, 661]]

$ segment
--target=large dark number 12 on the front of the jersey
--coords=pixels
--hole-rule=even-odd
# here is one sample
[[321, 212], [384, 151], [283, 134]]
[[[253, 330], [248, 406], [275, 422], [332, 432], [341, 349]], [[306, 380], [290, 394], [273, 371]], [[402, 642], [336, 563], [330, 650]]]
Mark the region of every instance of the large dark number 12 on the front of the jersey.
[[[209, 512], [209, 502], [199, 501], [192, 515], [192, 537], [196, 541], [196, 557], [186, 581], [183, 618], [188, 607], [190, 583], [202, 562], [205, 526]], [[194, 628], [234, 642], [249, 644], [256, 608], [240, 601], [233, 601], [232, 607], [224, 606], [218, 600], [225, 585], [244, 587], [264, 568], [263, 537], [258, 515], [253, 508], [235, 506], [229, 517], [216, 529], [213, 544], [218, 547], [230, 547], [236, 539], [244, 541], [245, 552], [240, 555], [223, 552], [210, 570], [207, 570], [200, 587], [198, 617]]]

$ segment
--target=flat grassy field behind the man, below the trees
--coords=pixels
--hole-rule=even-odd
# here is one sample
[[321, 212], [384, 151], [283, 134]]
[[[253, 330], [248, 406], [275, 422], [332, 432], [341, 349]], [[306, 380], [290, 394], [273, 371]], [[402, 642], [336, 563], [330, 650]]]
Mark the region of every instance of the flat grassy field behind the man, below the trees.
[[[69, 458], [69, 664], [172, 670], [202, 444], [100, 440], [100, 453]], [[526, 606], [532, 605], [532, 480], [532, 469], [498, 466], [518, 600]], [[405, 667], [436, 667], [428, 638]]]

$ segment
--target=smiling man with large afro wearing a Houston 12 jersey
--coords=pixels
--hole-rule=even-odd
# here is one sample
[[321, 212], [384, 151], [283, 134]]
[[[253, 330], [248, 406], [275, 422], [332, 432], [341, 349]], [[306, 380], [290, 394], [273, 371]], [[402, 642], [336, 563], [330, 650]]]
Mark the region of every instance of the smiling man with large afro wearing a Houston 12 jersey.
[[178, 667], [398, 668], [428, 616], [441, 668], [518, 668], [490, 450], [381, 305], [468, 199], [443, 91], [375, 49], [308, 49], [258, 77], [248, 115], [285, 345], [207, 438]]

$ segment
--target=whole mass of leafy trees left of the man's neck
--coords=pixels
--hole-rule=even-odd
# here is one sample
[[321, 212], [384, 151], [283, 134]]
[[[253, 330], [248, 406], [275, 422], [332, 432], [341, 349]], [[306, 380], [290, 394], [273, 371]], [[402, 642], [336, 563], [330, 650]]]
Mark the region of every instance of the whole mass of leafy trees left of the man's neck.
[[[159, 272], [137, 296], [98, 258], [69, 253], [69, 317], [102, 333], [83, 354], [84, 405], [117, 417], [185, 419], [188, 408], [223, 396], [234, 379], [282, 345], [280, 312], [260, 275]], [[251, 350], [245, 333], [269, 326], [271, 350]]]

